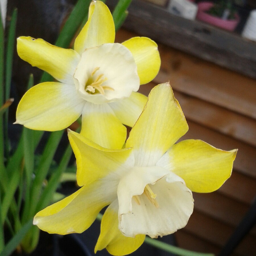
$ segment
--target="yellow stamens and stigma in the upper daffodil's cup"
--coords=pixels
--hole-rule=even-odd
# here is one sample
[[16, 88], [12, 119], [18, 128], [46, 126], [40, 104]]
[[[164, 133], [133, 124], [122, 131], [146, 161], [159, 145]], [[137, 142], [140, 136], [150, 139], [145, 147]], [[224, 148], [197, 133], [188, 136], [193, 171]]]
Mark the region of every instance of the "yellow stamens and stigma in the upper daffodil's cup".
[[102, 84], [108, 80], [106, 77], [104, 77], [104, 74], [100, 74], [94, 79], [95, 73], [100, 69], [100, 67], [96, 67], [92, 73], [90, 78], [87, 80], [85, 84], [85, 91], [90, 93], [90, 94], [105, 94], [105, 90], [111, 90], [113, 91], [114, 89], [109, 87], [109, 86], [102, 86]]

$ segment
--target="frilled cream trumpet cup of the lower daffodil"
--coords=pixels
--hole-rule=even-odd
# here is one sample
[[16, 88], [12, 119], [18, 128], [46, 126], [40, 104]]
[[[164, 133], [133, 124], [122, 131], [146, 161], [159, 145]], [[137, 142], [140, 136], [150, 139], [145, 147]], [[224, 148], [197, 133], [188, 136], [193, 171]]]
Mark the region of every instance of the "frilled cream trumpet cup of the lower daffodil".
[[[137, 195], [139, 201], [137, 203], [134, 197], [130, 197], [129, 192], [126, 193], [123, 190], [123, 194], [126, 193], [127, 198], [131, 201], [132, 208], [121, 215], [120, 205], [122, 201], [120, 201], [118, 193], [119, 230], [126, 236], [146, 234], [151, 238], [157, 238], [183, 228], [194, 208], [192, 193], [184, 181], [170, 172], [166, 177], [148, 186], [156, 195], [154, 204], [145, 192], [142, 195]], [[130, 190], [134, 189], [135, 187], [131, 185]]]

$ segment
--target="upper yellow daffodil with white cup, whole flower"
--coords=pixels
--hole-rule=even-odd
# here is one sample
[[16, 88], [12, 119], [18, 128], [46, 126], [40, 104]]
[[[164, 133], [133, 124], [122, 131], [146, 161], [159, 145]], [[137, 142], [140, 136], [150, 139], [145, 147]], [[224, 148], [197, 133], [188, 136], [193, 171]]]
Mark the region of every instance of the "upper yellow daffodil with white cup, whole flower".
[[28, 90], [18, 105], [16, 123], [56, 131], [82, 115], [82, 135], [106, 148], [121, 148], [123, 124], [132, 127], [146, 104], [146, 96], [137, 90], [159, 71], [158, 48], [146, 37], [114, 43], [113, 17], [101, 1], [92, 1], [88, 17], [74, 50], [42, 39], [17, 39], [18, 55], [59, 82]]

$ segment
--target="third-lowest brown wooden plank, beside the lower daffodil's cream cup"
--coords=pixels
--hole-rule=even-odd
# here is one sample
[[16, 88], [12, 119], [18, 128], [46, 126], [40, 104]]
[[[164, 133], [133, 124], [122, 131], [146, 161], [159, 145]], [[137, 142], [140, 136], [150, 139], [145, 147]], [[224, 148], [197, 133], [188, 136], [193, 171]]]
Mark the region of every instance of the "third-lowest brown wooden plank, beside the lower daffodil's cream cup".
[[[226, 197], [217, 191], [193, 193], [193, 198], [195, 199], [196, 210], [233, 227], [238, 226], [249, 210], [249, 205]], [[256, 236], [256, 227], [250, 233]]]

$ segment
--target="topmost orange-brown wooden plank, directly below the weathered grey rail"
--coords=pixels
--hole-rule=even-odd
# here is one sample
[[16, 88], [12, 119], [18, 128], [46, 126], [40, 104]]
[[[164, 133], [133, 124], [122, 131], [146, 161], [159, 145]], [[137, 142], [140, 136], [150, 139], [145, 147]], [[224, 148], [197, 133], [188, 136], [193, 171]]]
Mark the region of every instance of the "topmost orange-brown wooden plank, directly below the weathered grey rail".
[[[137, 34], [119, 30], [116, 41], [123, 42], [134, 36]], [[179, 92], [256, 118], [255, 80], [170, 47], [159, 45], [158, 48], [162, 62], [154, 79], [156, 84], [170, 80]]]

